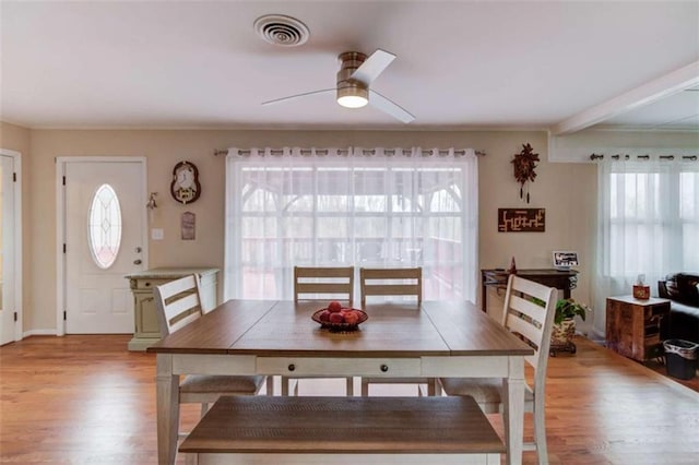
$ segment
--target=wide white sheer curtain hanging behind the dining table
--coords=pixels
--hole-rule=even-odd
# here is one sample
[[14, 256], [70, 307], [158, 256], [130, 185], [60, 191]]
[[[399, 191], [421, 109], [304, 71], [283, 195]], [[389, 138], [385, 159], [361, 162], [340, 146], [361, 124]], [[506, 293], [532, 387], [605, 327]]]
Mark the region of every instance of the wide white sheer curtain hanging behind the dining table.
[[425, 299], [475, 301], [477, 182], [470, 148], [230, 148], [224, 298], [354, 265], [423, 266]]

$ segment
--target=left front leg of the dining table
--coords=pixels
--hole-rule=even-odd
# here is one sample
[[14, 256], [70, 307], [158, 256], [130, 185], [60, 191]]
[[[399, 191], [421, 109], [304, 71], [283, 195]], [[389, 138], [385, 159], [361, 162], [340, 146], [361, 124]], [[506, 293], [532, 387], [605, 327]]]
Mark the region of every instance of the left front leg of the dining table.
[[157, 463], [174, 465], [179, 430], [179, 375], [173, 374], [170, 354], [158, 354], [156, 363]]

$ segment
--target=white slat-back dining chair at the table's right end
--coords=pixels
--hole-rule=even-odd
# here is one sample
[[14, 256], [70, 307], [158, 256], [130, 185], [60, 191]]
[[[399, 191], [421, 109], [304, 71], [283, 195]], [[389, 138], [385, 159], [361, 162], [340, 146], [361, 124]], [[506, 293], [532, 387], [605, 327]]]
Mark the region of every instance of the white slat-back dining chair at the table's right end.
[[[533, 413], [534, 442], [525, 443], [524, 450], [535, 450], [540, 464], [548, 463], [544, 401], [556, 300], [554, 287], [514, 274], [508, 278], [502, 324], [534, 349], [534, 355], [525, 357], [534, 368], [534, 385], [524, 386], [524, 410]], [[505, 413], [501, 378], [440, 378], [439, 383], [447, 395], [472, 396], [485, 414]]]

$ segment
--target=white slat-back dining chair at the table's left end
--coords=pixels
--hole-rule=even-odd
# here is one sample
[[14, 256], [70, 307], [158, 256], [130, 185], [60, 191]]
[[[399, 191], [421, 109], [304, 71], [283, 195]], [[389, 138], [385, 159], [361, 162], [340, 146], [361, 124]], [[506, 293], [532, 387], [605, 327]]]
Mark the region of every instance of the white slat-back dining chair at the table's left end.
[[[196, 274], [155, 286], [155, 307], [161, 336], [165, 337], [199, 319], [204, 310], [201, 303], [201, 285]], [[211, 309], [206, 309], [211, 310]], [[203, 375], [189, 374], [179, 384], [180, 404], [201, 404], [201, 416], [209, 404], [222, 395], [256, 395], [266, 382], [266, 393], [272, 395], [271, 379], [263, 375]], [[179, 433], [180, 437], [186, 436]]]

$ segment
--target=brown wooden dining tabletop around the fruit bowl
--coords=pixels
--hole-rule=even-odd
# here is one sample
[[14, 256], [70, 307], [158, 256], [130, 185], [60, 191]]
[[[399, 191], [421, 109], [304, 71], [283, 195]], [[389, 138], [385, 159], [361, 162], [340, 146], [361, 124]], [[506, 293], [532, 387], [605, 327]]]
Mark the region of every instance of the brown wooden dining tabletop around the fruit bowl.
[[368, 303], [358, 331], [311, 320], [322, 301], [228, 300], [147, 351], [257, 356], [425, 357], [531, 355], [533, 350], [469, 302]]

